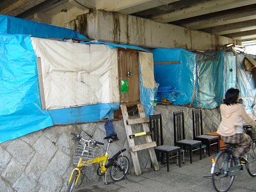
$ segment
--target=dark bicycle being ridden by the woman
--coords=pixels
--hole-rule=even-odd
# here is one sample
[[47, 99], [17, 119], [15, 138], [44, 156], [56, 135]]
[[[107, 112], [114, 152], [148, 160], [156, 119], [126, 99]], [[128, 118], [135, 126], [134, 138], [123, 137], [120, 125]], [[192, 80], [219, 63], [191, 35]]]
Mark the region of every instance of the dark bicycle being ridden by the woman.
[[[243, 128], [248, 133], [248, 128], [252, 128], [252, 126], [245, 125]], [[239, 159], [234, 157], [233, 152], [236, 149], [236, 144], [225, 144], [226, 148], [220, 151], [215, 159], [212, 158], [212, 185], [218, 192], [225, 192], [230, 189], [236, 175], [243, 171], [243, 166], [252, 177], [256, 177], [256, 139], [252, 142], [250, 153], [246, 155], [247, 164], [241, 164]]]

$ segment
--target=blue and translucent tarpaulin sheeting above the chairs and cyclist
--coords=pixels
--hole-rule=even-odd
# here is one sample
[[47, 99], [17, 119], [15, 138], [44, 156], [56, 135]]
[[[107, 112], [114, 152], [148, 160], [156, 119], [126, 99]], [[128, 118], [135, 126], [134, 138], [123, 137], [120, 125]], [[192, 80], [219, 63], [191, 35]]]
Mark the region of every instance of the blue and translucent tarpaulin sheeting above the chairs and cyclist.
[[153, 49], [154, 76], [159, 87], [179, 91], [174, 105], [198, 108], [220, 106], [229, 88], [238, 88], [247, 113], [253, 113], [256, 90], [252, 72], [244, 68], [244, 54], [193, 53], [184, 49]]

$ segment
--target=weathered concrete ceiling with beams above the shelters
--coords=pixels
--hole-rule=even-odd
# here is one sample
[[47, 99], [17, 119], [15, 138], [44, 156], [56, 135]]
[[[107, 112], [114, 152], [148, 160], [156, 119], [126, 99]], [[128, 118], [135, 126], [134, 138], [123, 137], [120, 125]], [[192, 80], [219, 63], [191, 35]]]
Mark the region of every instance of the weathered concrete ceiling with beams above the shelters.
[[188, 29], [256, 39], [255, 0], [1, 0], [0, 14], [51, 22], [51, 15], [76, 6], [135, 15]]

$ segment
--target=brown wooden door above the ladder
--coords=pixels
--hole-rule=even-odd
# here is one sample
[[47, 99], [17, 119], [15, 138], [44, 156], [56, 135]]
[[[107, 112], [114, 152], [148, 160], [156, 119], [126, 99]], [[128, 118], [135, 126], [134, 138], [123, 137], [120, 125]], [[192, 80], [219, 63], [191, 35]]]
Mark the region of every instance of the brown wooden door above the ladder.
[[[128, 74], [129, 73], [129, 74]], [[121, 103], [140, 102], [140, 69], [138, 64], [138, 51], [118, 51], [119, 87], [121, 81], [128, 83], [128, 92], [120, 91]]]

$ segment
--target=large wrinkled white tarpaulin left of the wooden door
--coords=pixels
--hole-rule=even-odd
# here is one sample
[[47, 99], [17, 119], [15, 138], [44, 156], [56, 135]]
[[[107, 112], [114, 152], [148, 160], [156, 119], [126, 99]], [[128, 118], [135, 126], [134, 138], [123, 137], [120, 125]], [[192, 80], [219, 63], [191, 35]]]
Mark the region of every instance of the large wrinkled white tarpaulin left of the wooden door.
[[31, 43], [40, 58], [46, 109], [120, 102], [116, 49], [42, 38]]

